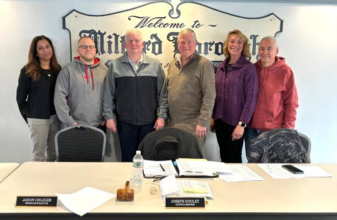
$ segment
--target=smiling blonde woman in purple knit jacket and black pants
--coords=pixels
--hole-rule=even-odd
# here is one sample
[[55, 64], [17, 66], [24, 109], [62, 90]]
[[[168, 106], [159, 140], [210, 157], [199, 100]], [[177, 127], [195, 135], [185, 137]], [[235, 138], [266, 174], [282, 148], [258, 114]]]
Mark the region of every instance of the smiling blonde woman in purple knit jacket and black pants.
[[257, 74], [248, 60], [249, 40], [241, 31], [228, 32], [223, 44], [225, 60], [215, 75], [216, 99], [210, 127], [217, 136], [221, 161], [241, 163], [245, 127], [257, 101]]

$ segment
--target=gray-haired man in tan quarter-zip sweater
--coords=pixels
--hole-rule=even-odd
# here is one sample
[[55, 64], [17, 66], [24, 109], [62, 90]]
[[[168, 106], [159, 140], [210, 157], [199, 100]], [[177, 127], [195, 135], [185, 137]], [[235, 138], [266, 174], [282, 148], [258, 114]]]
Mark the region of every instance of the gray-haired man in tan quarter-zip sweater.
[[180, 56], [171, 61], [167, 73], [171, 123], [195, 134], [203, 150], [215, 100], [214, 68], [196, 52], [193, 30], [180, 31], [177, 43]]

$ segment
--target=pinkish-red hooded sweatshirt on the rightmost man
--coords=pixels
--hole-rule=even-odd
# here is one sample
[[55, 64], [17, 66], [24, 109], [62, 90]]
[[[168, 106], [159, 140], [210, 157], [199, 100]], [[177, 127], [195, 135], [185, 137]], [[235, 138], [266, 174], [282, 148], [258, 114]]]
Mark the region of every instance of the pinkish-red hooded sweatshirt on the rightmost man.
[[251, 128], [294, 128], [298, 96], [293, 71], [281, 57], [276, 57], [275, 63], [267, 68], [261, 60], [254, 65], [259, 91]]

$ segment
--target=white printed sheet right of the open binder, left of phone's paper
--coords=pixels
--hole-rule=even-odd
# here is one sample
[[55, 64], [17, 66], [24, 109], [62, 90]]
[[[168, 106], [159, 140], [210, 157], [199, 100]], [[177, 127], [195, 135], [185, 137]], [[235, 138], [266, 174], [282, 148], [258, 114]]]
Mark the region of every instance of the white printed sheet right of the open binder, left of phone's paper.
[[228, 165], [231, 173], [218, 172], [220, 179], [226, 182], [241, 182], [241, 181], [260, 181], [264, 180], [255, 172], [244, 165]]

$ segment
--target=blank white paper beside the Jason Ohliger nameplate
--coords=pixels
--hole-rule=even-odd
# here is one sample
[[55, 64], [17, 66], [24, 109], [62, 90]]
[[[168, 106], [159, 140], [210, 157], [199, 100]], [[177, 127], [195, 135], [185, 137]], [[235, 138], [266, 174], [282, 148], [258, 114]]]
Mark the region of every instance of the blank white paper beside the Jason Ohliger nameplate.
[[85, 187], [72, 194], [55, 194], [65, 207], [80, 216], [116, 196], [93, 187]]

